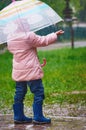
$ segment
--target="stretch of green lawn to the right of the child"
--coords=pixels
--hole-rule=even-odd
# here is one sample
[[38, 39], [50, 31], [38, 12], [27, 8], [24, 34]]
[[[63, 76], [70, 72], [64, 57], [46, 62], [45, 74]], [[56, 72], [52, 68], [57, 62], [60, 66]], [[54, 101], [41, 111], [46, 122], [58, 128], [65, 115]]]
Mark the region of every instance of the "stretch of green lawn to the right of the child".
[[86, 48], [39, 52], [39, 56], [47, 59], [43, 78], [47, 103], [86, 102], [86, 94], [65, 94], [86, 91]]

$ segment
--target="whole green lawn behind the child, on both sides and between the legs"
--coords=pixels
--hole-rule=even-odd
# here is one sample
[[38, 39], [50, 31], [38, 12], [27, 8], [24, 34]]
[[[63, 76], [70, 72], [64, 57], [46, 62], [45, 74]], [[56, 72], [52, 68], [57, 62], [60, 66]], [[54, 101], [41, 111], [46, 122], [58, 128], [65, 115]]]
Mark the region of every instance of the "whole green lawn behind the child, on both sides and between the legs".
[[[45, 104], [86, 103], [86, 94], [66, 94], [72, 91], [86, 91], [86, 47], [76, 49], [58, 49], [39, 51], [40, 62], [47, 59], [43, 68]], [[15, 83], [11, 79], [12, 55], [9, 52], [0, 55], [0, 109], [11, 107], [15, 92]], [[25, 103], [31, 105], [33, 95], [28, 90]]]

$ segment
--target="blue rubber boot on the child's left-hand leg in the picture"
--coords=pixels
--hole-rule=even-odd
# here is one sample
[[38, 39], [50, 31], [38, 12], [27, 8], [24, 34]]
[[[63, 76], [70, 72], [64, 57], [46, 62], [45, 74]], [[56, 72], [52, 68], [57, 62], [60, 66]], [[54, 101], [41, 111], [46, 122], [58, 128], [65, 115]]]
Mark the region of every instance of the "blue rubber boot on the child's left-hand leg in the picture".
[[32, 118], [28, 118], [24, 115], [24, 105], [22, 103], [16, 103], [13, 105], [14, 111], [14, 123], [22, 124], [22, 123], [31, 123]]

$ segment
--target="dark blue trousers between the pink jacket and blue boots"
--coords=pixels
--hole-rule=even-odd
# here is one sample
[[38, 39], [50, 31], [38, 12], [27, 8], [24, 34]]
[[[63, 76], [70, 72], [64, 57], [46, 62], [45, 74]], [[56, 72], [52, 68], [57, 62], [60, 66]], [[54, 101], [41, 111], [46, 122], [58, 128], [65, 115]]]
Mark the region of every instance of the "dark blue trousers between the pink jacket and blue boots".
[[27, 93], [27, 86], [29, 86], [30, 91], [34, 94], [34, 103], [43, 103], [44, 87], [41, 79], [16, 82], [14, 103], [23, 103]]

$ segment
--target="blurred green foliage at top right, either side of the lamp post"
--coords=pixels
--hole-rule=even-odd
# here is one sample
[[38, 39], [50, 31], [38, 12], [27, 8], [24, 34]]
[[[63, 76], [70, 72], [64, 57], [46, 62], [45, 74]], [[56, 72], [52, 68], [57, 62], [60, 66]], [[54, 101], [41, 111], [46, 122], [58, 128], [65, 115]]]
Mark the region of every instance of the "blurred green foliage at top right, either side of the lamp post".
[[[50, 5], [60, 16], [63, 17], [65, 0], [42, 0]], [[73, 9], [74, 16], [81, 21], [86, 21], [86, 0], [70, 0], [70, 6]]]

